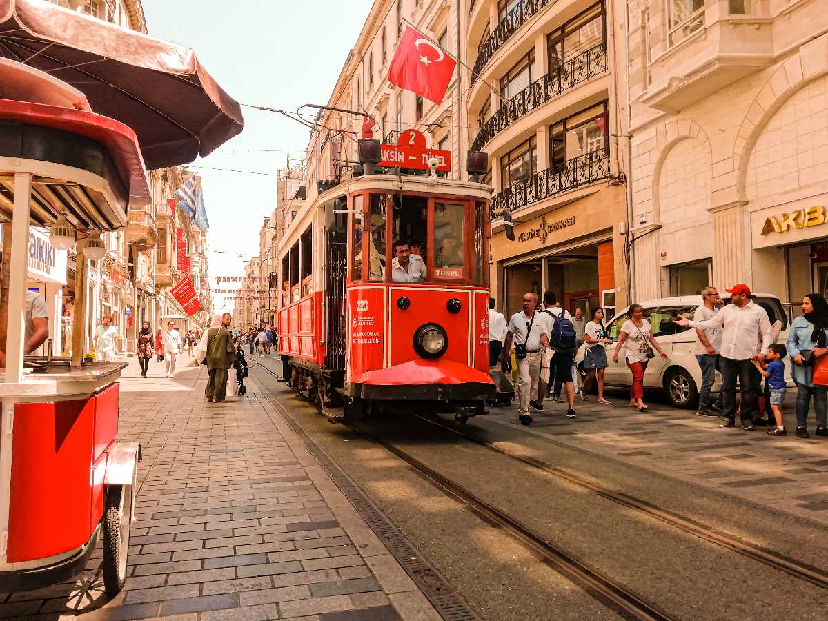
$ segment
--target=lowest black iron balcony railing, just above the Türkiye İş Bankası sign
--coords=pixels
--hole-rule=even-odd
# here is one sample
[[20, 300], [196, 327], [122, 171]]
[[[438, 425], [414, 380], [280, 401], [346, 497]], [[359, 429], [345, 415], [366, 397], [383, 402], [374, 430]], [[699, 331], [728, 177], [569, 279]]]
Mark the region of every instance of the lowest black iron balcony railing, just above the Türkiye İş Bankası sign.
[[540, 171], [525, 181], [519, 181], [492, 197], [492, 218], [505, 209], [517, 211], [521, 207], [546, 199], [580, 185], [589, 185], [609, 177], [609, 150], [601, 149], [567, 160], [559, 166]]

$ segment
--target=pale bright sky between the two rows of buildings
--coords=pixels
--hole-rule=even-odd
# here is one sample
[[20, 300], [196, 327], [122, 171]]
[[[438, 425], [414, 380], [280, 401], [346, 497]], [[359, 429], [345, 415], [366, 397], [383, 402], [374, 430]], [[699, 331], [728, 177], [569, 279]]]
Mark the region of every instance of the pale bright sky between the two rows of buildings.
[[[143, 0], [143, 7], [149, 34], [192, 47], [233, 99], [296, 110], [327, 103], [372, 3]], [[282, 115], [247, 107], [242, 113], [243, 132], [190, 166], [204, 187], [213, 288], [217, 276], [242, 276], [244, 260], [258, 253], [259, 228], [276, 207], [276, 177], [199, 166], [272, 174], [285, 166], [288, 152], [298, 161], [310, 137]], [[221, 310], [220, 299], [214, 304]]]

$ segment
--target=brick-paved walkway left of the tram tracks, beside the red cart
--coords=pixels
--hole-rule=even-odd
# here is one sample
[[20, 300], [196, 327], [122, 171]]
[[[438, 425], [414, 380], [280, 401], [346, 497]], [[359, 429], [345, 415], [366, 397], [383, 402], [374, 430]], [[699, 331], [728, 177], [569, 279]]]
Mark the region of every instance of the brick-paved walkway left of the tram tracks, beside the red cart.
[[0, 595], [2, 619], [440, 619], [258, 388], [221, 404], [206, 373], [121, 386], [119, 438], [138, 441], [128, 580], [108, 599], [96, 551], [79, 580]]

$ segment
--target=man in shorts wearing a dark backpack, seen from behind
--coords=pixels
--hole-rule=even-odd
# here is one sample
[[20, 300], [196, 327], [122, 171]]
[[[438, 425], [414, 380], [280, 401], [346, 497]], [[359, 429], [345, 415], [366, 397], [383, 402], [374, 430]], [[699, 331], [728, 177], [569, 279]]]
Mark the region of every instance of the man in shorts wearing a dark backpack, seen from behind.
[[[567, 418], [575, 418], [575, 383], [572, 381], [572, 363], [575, 359], [575, 352], [578, 350], [578, 335], [575, 332], [575, 325], [572, 323], [572, 315], [558, 305], [557, 296], [554, 291], [546, 291], [543, 294], [542, 313], [551, 317], [551, 330], [549, 331], [549, 345], [555, 351], [549, 364], [549, 383], [540, 383], [537, 387], [537, 410], [543, 410], [543, 397], [546, 396], [546, 388], [555, 378], [554, 386], [566, 388], [566, 410]], [[537, 407], [536, 407], [537, 406]]]

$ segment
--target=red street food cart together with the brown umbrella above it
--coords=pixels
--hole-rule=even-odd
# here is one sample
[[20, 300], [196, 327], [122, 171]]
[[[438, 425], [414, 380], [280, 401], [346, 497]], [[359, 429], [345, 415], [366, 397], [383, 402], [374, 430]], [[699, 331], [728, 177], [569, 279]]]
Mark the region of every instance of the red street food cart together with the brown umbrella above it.
[[71, 359], [24, 356], [30, 225], [55, 248], [75, 245], [83, 318], [100, 234], [152, 200], [147, 166], [206, 156], [242, 128], [238, 103], [189, 48], [0, 0], [0, 592], [79, 574], [99, 541], [104, 587], [120, 590], [141, 452], [115, 439], [126, 365], [84, 360], [84, 320], [72, 322]]

